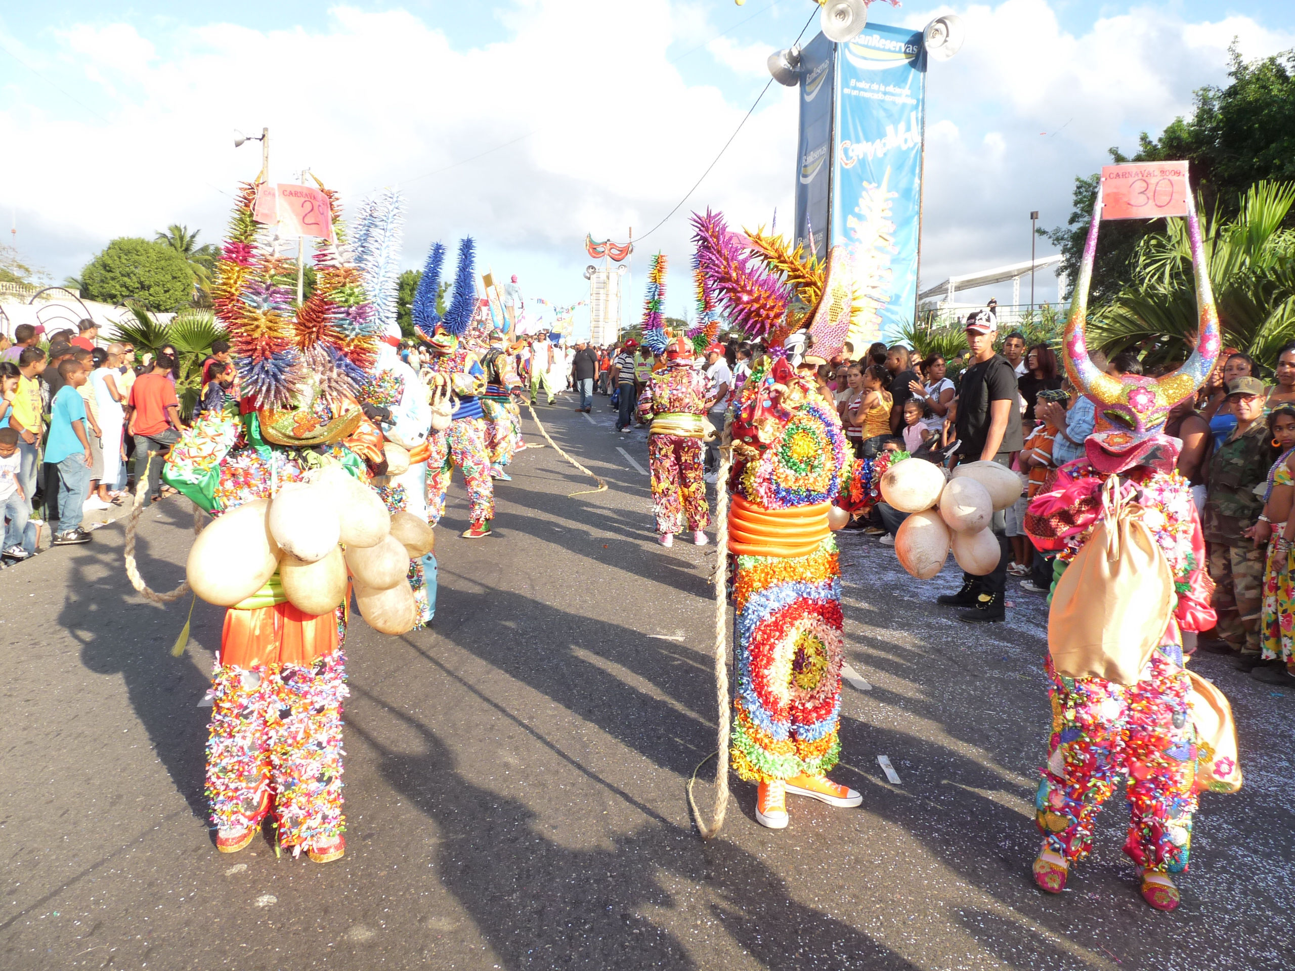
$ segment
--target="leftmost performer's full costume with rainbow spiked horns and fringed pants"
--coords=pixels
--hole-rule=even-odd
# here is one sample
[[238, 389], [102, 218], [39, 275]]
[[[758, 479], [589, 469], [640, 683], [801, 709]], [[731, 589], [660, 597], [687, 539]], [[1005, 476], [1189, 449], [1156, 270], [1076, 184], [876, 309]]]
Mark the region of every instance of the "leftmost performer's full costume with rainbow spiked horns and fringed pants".
[[[381, 434], [357, 403], [357, 386], [376, 357], [373, 308], [351, 262], [335, 198], [320, 189], [332, 205], [333, 236], [316, 242], [316, 290], [294, 307], [287, 286], [294, 267], [254, 218], [254, 211], [262, 214], [258, 192], [275, 189], [259, 181], [242, 186], [214, 290], [242, 397], [188, 429], [163, 474], [216, 517], [190, 553], [188, 579], [197, 596], [231, 607], [212, 676], [207, 742], [206, 794], [216, 845], [242, 849], [269, 818], [278, 845], [326, 862], [344, 852], [346, 829], [341, 513], [330, 510], [334, 539], [319, 562], [332, 571], [334, 594], [322, 612], [312, 614], [294, 605], [298, 588], [285, 590], [291, 584], [281, 577], [290, 561], [308, 563], [267, 539], [267, 510], [281, 504], [291, 509], [302, 491], [322, 496], [324, 487], [293, 483], [324, 467], [334, 482], [339, 476], [337, 488], [360, 491], [347, 501], [368, 495], [376, 502], [365, 483], [383, 456]], [[251, 526], [242, 533], [249, 542], [221, 539], [245, 524]], [[262, 561], [250, 564], [254, 546], [262, 548]], [[243, 593], [232, 593], [240, 584]], [[300, 602], [320, 602], [310, 583], [303, 594]]]

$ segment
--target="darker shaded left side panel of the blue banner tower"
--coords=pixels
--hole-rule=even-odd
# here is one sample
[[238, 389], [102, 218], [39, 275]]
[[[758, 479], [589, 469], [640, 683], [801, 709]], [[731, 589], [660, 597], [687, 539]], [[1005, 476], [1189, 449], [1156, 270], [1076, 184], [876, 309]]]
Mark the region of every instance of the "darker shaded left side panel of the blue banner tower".
[[822, 34], [800, 52], [800, 132], [796, 151], [795, 242], [820, 259], [828, 255], [831, 198], [831, 109], [837, 87], [837, 45]]

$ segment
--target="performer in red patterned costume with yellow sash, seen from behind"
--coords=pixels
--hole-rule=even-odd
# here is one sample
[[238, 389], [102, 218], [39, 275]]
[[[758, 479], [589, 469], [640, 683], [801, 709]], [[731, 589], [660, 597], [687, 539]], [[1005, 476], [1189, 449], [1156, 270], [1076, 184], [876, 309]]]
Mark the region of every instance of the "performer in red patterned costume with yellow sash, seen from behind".
[[684, 528], [706, 545], [706, 484], [702, 482], [702, 439], [706, 435], [706, 377], [693, 366], [693, 346], [682, 337], [666, 346], [666, 369], [648, 379], [638, 414], [650, 421], [648, 460], [657, 539], [662, 546]]

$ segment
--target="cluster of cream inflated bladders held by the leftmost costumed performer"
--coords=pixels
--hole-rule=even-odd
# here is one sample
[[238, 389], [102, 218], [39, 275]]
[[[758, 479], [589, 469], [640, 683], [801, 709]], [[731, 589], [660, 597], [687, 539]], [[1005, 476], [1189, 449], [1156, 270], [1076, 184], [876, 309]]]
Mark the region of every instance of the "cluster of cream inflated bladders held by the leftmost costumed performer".
[[278, 574], [287, 602], [311, 615], [341, 606], [354, 581], [369, 625], [403, 634], [418, 618], [409, 562], [433, 545], [422, 519], [392, 515], [372, 488], [325, 466], [215, 519], [189, 550], [186, 574], [198, 597], [221, 607], [242, 603]]

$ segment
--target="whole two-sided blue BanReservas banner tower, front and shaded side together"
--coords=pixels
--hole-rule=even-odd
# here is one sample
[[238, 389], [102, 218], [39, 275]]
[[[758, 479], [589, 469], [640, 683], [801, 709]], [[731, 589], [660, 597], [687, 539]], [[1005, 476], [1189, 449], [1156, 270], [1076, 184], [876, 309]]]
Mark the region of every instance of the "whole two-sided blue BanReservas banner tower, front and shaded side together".
[[856, 343], [913, 321], [925, 85], [921, 31], [869, 23], [802, 53], [795, 234], [820, 258], [828, 246], [853, 255], [868, 298]]

